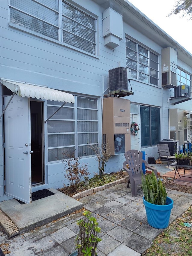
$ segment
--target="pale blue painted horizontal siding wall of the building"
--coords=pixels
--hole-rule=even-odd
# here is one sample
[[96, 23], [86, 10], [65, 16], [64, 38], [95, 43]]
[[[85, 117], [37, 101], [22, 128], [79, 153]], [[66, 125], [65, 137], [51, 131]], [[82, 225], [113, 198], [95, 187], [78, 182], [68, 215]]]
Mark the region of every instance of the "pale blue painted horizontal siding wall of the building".
[[[95, 2], [76, 1], [82, 8], [98, 17], [98, 57], [89, 56], [80, 51], [65, 47], [60, 43], [47, 41], [43, 38], [31, 35], [21, 30], [8, 26], [7, 1], [0, 1], [1, 8], [1, 62], [0, 77], [11, 80], [23, 81], [32, 84], [46, 85], [53, 89], [84, 95], [94, 95], [99, 100], [99, 116], [101, 115], [101, 97], [108, 88], [108, 70], [116, 68], [118, 62], [122, 66], [126, 64], [125, 58], [125, 36], [131, 36], [138, 43], [146, 45], [147, 48], [161, 55], [158, 44], [147, 35], [143, 35], [128, 24], [123, 24], [124, 38], [120, 45], [114, 50], [104, 46], [102, 28], [102, 9]], [[180, 62], [179, 62], [180, 63]], [[181, 63], [183, 65], [184, 63]], [[186, 67], [186, 69], [189, 67]], [[151, 86], [137, 80], [131, 80], [134, 95], [127, 98], [134, 103], [157, 106], [161, 108], [161, 139], [169, 137], [168, 130], [168, 98], [173, 96], [173, 89], [162, 89], [161, 87], [161, 58], [159, 58], [159, 87]], [[189, 107], [189, 106], [188, 106]], [[101, 134], [101, 119], [100, 134]], [[0, 120], [0, 201], [3, 194], [3, 149], [2, 149], [2, 119]], [[101, 135], [100, 135], [101, 137]], [[149, 156], [158, 157], [157, 146], [142, 148], [148, 159]], [[93, 176], [98, 172], [98, 162], [94, 158], [84, 158], [88, 162], [89, 171]], [[122, 169], [124, 155], [116, 155], [110, 158], [106, 172]], [[64, 178], [62, 163], [46, 164], [45, 187], [59, 188], [63, 183], [67, 185]]]

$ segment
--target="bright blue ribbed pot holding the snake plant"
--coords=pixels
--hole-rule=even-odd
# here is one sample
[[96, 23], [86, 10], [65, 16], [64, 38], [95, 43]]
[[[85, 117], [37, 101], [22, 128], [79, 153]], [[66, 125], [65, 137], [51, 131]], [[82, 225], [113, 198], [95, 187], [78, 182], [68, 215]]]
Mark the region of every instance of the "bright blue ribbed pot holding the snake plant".
[[143, 204], [145, 205], [147, 221], [150, 226], [160, 229], [169, 226], [171, 209], [173, 208], [173, 200], [170, 197], [167, 197], [166, 205], [149, 203], [143, 197]]

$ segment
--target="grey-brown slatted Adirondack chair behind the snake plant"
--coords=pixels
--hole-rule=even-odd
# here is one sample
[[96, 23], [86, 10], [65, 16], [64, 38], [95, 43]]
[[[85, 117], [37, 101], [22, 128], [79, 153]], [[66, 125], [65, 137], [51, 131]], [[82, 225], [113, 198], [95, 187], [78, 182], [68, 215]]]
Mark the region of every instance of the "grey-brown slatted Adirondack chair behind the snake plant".
[[143, 172], [143, 163], [145, 167], [153, 170], [157, 178], [157, 170], [154, 167], [151, 167], [143, 159], [143, 153], [138, 150], [128, 150], [125, 152], [126, 161], [123, 163], [123, 169], [128, 172], [129, 180], [127, 187], [131, 182], [131, 193], [132, 197], [137, 197], [137, 185], [141, 184], [141, 174]]

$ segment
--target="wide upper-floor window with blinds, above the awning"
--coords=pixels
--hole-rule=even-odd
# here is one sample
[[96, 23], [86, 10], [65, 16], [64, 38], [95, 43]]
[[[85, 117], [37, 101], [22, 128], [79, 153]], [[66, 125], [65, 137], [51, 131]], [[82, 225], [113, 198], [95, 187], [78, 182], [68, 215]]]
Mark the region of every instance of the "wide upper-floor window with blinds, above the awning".
[[96, 54], [96, 19], [61, 0], [10, 0], [10, 23]]

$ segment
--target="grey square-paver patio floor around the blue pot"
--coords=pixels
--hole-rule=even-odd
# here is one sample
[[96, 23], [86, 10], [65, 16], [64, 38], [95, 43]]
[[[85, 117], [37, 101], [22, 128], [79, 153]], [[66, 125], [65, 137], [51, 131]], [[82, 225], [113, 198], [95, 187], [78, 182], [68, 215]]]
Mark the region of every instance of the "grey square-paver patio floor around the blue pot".
[[[163, 171], [160, 170], [160, 172], [162, 175]], [[168, 189], [167, 191], [168, 196], [174, 201], [171, 223], [191, 205], [191, 194]], [[36, 202], [39, 201], [41, 205], [42, 200], [44, 199]], [[83, 197], [77, 202], [92, 212], [101, 227], [102, 241], [98, 243], [97, 250], [99, 256], [139, 256], [163, 231], [148, 225], [143, 206], [143, 191], [140, 186], [138, 186], [137, 197], [132, 197], [131, 188], [127, 188], [127, 183], [122, 183]], [[52, 211], [51, 205], [47, 208], [49, 212]], [[1, 229], [1, 249], [3, 251], [7, 249], [9, 256], [69, 256], [75, 250], [74, 239], [79, 232], [76, 221], [80, 218], [82, 218], [82, 212], [77, 211], [43, 226], [36, 225], [33, 230], [25, 231], [10, 239]], [[20, 223], [22, 223], [21, 220]]]

